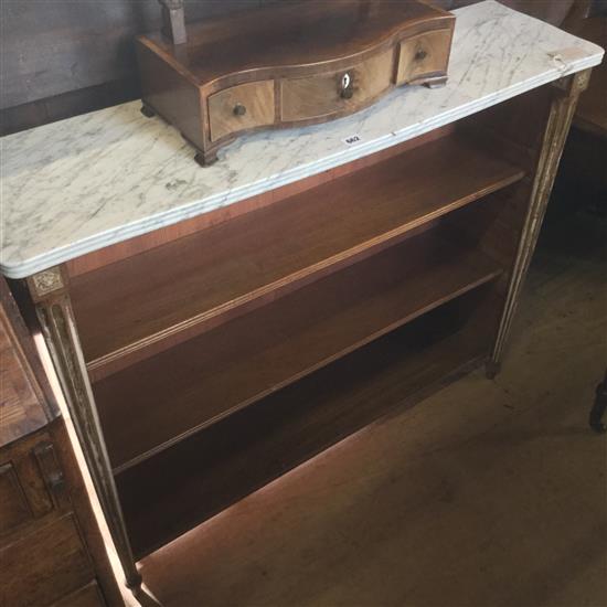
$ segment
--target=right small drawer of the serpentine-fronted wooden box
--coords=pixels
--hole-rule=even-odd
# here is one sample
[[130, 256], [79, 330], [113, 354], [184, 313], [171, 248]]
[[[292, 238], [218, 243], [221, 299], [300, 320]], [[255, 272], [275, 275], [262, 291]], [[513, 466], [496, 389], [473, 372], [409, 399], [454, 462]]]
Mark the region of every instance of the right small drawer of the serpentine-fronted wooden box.
[[396, 84], [432, 74], [446, 74], [450, 46], [451, 30], [426, 32], [401, 42]]

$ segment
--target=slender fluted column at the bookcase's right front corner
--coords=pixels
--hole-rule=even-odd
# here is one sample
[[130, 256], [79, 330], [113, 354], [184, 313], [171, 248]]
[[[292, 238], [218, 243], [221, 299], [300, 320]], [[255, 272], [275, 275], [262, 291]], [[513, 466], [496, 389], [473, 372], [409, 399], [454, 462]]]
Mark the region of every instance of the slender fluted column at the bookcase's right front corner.
[[487, 365], [487, 374], [490, 377], [493, 377], [500, 369], [504, 344], [512, 328], [512, 319], [517, 311], [529, 264], [535, 251], [535, 244], [537, 243], [537, 236], [540, 235], [540, 228], [542, 227], [577, 99], [579, 94], [587, 88], [589, 78], [590, 70], [585, 70], [573, 76], [561, 78], [553, 84], [556, 93], [550, 108], [546, 129], [542, 140], [540, 159], [512, 276], [510, 277], [504, 309], [491, 359]]

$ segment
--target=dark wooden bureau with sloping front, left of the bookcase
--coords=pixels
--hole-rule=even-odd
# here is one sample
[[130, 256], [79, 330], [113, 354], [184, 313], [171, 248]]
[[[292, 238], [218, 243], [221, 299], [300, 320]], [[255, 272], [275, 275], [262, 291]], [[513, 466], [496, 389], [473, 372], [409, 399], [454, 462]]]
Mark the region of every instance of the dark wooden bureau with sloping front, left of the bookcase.
[[121, 605], [67, 432], [0, 278], [0, 603]]

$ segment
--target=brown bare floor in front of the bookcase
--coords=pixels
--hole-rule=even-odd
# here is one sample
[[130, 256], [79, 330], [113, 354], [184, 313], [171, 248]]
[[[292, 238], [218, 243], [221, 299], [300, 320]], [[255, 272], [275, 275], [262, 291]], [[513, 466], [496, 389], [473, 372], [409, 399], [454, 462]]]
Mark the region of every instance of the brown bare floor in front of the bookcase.
[[477, 371], [143, 561], [167, 607], [607, 605], [605, 221], [544, 230], [502, 373]]

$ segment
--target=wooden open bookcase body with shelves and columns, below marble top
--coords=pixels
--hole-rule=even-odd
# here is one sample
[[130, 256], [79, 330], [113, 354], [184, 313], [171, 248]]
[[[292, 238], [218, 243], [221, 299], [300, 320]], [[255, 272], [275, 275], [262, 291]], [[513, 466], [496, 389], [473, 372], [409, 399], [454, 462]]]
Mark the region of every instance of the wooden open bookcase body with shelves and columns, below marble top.
[[131, 587], [244, 496], [498, 371], [586, 83], [71, 259], [51, 295], [28, 278]]

